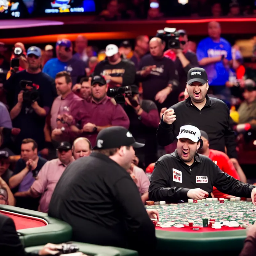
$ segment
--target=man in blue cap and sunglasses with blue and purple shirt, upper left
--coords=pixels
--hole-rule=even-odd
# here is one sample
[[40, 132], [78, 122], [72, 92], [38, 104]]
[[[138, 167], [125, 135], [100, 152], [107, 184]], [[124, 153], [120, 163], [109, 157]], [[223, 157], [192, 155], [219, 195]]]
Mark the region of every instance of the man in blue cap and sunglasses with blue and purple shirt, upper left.
[[70, 72], [73, 84], [76, 84], [77, 78], [85, 74], [86, 63], [73, 57], [73, 46], [70, 40], [62, 39], [56, 43], [57, 58], [52, 58], [46, 62], [43, 72], [50, 77], [55, 78], [61, 71]]

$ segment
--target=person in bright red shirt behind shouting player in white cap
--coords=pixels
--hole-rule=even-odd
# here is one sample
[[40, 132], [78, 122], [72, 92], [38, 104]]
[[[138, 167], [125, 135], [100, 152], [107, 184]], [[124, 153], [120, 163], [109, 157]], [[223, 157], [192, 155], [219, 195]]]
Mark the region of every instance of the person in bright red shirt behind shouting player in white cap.
[[[213, 150], [209, 148], [209, 138], [205, 131], [200, 130], [201, 132], [201, 139], [203, 141], [203, 146], [201, 149], [198, 150], [199, 154], [205, 155], [209, 157], [218, 167], [225, 173], [229, 174], [230, 176], [234, 177], [235, 179], [238, 179], [244, 183], [246, 183], [246, 176], [240, 167], [238, 171], [235, 169], [233, 163], [230, 161], [229, 157], [218, 150]], [[231, 198], [234, 197], [232, 195], [227, 195], [219, 190], [217, 190], [216, 187], [213, 187], [212, 193], [214, 194], [214, 197], [217, 198]]]

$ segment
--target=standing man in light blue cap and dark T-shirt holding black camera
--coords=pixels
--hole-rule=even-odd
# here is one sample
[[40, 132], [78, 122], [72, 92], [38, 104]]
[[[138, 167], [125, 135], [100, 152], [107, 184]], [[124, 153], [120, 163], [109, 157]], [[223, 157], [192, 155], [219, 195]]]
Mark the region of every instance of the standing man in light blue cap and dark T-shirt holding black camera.
[[27, 61], [28, 68], [14, 73], [4, 84], [13, 126], [21, 129], [15, 138], [15, 154], [20, 153], [24, 138], [34, 139], [39, 151], [44, 148], [45, 118], [57, 96], [54, 79], [40, 69], [40, 48], [31, 46], [27, 51]]

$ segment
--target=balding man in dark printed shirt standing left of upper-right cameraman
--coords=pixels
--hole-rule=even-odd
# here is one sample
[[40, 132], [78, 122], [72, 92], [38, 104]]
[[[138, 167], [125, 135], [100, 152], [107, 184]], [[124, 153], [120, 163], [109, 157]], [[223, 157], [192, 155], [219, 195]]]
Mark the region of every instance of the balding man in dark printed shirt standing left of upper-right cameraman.
[[138, 81], [142, 82], [143, 99], [154, 101], [159, 112], [161, 108], [173, 104], [172, 91], [178, 87], [175, 64], [163, 56], [165, 46], [161, 38], [152, 38], [149, 42], [150, 54], [142, 57], [136, 73]]

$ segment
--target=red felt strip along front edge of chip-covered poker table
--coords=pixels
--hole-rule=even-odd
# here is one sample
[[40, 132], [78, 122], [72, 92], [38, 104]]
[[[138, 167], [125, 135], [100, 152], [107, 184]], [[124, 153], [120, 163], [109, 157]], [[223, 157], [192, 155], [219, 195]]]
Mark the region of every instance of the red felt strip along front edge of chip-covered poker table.
[[[199, 230], [192, 230], [192, 228], [200, 228]], [[186, 226], [184, 225], [184, 228], [175, 228], [175, 227], [170, 227], [170, 228], [161, 228], [156, 226], [156, 230], [163, 230], [163, 231], [171, 231], [171, 232], [214, 232], [214, 231], [234, 231], [234, 230], [241, 230], [241, 227], [233, 228], [233, 227], [227, 227], [227, 226], [222, 226], [221, 229], [215, 229], [212, 227], [202, 227], [202, 226]]]

